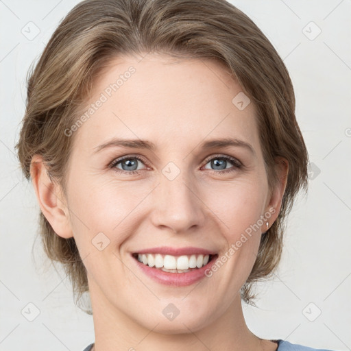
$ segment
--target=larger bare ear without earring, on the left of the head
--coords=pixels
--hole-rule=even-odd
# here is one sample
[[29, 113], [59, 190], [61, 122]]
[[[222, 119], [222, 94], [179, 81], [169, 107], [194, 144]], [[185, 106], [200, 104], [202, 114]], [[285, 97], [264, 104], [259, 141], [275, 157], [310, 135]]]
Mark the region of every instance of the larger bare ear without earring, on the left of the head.
[[40, 209], [54, 232], [65, 239], [73, 237], [62, 189], [51, 180], [42, 156], [32, 157], [30, 175]]

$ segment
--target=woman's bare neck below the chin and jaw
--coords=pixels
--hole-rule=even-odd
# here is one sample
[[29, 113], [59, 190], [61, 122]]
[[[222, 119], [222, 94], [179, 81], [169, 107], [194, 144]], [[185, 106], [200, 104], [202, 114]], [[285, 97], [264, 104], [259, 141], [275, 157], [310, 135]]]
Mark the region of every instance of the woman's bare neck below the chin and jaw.
[[[193, 323], [193, 328], [182, 323], [182, 330], [168, 330], [168, 332], [158, 328], [160, 323], [157, 322], [152, 324], [151, 328], [141, 325], [116, 306], [111, 306], [100, 293], [101, 291], [94, 294], [90, 289], [95, 328], [94, 351], [276, 350], [276, 343], [256, 337], [247, 328], [239, 293], [229, 308], [217, 319], [210, 322], [201, 321], [199, 324]], [[141, 313], [141, 317], [143, 317], [141, 322], [147, 320], [147, 315]], [[162, 324], [164, 317], [161, 318]]]

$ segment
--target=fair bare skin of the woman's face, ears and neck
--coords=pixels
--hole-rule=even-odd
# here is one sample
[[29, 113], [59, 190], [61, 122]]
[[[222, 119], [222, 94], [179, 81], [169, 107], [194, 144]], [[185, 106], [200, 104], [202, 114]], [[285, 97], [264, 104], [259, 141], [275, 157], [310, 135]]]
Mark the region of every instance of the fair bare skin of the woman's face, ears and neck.
[[[149, 53], [140, 62], [116, 58], [93, 84], [88, 103], [134, 66], [136, 72], [74, 132], [63, 193], [51, 182], [40, 156], [32, 179], [38, 203], [60, 237], [74, 237], [88, 274], [95, 326], [95, 348], [105, 350], [276, 350], [245, 324], [240, 289], [252, 270], [261, 233], [253, 232], [210, 278], [188, 287], [169, 287], [145, 276], [131, 253], [147, 247], [195, 246], [228, 252], [241, 234], [274, 208], [276, 220], [288, 167], [278, 164], [280, 182], [269, 191], [258, 138], [255, 109], [239, 110], [232, 99], [242, 88], [213, 60], [175, 60]], [[141, 138], [156, 149], [106, 147], [112, 138]], [[202, 149], [212, 138], [237, 138], [244, 147]], [[232, 156], [226, 170], [211, 165], [215, 156]], [[124, 173], [121, 156], [141, 156], [138, 174]], [[208, 156], [214, 156], [206, 161]], [[162, 169], [173, 162], [180, 174], [169, 180]], [[125, 164], [123, 164], [125, 166]], [[117, 168], [117, 169], [116, 169]], [[97, 250], [102, 232], [110, 241]], [[169, 321], [168, 304], [180, 314]]]

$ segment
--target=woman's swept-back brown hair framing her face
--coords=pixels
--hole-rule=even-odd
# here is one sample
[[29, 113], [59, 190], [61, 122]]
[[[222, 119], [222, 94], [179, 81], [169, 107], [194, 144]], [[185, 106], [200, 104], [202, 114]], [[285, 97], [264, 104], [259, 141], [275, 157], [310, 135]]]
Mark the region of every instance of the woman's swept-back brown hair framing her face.
[[[245, 302], [252, 285], [268, 278], [282, 252], [284, 219], [300, 189], [307, 189], [308, 154], [295, 119], [289, 73], [260, 29], [224, 0], [86, 0], [67, 14], [31, 72], [18, 148], [30, 178], [32, 156], [39, 154], [51, 178], [65, 189], [73, 137], [64, 130], [77, 119], [92, 82], [118, 56], [148, 52], [178, 58], [215, 59], [224, 64], [256, 108], [270, 189], [278, 181], [277, 156], [289, 162], [287, 187], [278, 218], [262, 235], [258, 256], [241, 289]], [[74, 238], [59, 237], [40, 213], [40, 235], [51, 261], [62, 263], [73, 293], [88, 291], [86, 269]]]

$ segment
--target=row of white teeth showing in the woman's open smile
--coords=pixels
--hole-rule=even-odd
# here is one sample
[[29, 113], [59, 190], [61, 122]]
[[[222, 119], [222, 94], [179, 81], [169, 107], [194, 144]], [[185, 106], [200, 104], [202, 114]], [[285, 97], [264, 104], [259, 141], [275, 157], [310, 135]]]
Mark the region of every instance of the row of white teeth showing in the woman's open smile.
[[172, 256], [165, 254], [132, 254], [133, 258], [148, 267], [169, 273], [186, 273], [202, 268], [218, 257], [218, 254], [192, 254]]

